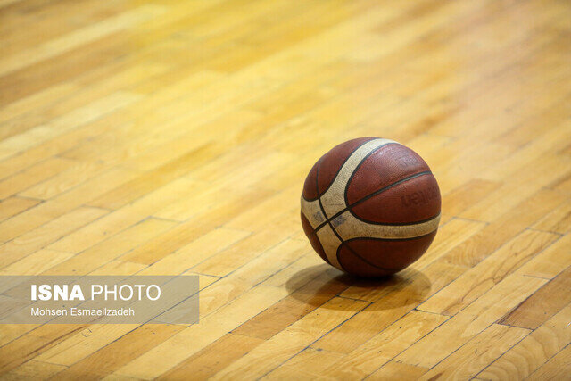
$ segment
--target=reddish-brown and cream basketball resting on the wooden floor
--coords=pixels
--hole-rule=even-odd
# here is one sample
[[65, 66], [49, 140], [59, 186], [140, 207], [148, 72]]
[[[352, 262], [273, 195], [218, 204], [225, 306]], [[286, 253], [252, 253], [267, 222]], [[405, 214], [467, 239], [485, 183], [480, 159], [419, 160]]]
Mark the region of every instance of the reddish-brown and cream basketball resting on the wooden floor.
[[436, 178], [418, 153], [393, 140], [361, 137], [336, 145], [311, 168], [302, 226], [330, 265], [382, 277], [426, 252], [440, 207]]

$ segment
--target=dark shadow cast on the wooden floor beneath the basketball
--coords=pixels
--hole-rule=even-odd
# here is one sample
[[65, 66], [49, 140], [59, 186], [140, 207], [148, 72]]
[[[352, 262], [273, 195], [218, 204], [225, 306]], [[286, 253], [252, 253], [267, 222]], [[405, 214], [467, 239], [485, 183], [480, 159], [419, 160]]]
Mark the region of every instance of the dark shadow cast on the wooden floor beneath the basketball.
[[389, 277], [357, 278], [327, 264], [296, 272], [285, 284], [292, 297], [313, 307], [337, 308], [327, 303], [341, 295], [372, 302], [366, 311], [392, 310], [425, 300], [430, 280], [416, 269], [404, 269]]

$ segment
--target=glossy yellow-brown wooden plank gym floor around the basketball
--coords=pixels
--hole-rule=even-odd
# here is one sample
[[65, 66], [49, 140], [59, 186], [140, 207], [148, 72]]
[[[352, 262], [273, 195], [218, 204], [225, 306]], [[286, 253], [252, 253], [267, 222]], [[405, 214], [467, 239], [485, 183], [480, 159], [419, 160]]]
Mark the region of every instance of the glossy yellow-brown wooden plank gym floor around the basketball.
[[[194, 326], [0, 326], [2, 378], [571, 377], [570, 33], [567, 0], [0, 0], [0, 274], [202, 287]], [[362, 136], [443, 193], [384, 281], [299, 221]]]

